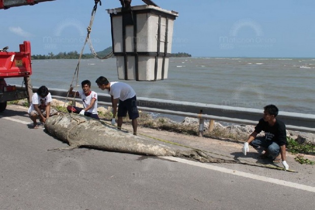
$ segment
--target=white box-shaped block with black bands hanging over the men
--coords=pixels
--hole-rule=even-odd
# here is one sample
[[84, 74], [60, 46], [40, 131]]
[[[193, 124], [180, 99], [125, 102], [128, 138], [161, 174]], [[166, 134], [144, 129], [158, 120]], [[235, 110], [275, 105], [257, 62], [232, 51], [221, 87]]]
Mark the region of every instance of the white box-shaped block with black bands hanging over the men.
[[167, 79], [173, 26], [178, 13], [148, 5], [107, 11], [111, 17], [118, 79]]

